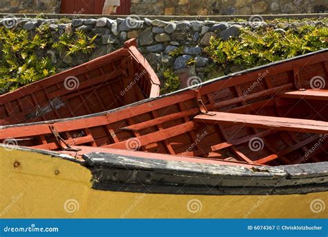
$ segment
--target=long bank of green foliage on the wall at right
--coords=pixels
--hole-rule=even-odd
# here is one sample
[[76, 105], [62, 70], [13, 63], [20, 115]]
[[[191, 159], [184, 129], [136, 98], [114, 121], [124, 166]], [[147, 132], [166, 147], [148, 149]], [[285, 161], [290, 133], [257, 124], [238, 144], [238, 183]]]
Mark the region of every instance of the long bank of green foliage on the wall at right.
[[327, 38], [327, 27], [307, 25], [286, 32], [259, 28], [253, 32], [244, 30], [238, 39], [223, 41], [212, 37], [205, 51], [217, 64], [234, 63], [250, 68], [325, 49]]

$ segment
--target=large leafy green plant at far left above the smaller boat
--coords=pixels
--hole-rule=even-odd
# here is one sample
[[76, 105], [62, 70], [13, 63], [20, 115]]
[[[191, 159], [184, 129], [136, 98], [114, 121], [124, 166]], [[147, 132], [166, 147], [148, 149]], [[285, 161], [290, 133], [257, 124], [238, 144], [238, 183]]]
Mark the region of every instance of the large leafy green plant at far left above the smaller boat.
[[0, 42], [0, 94], [55, 73], [50, 58], [35, 53], [51, 44], [47, 34], [37, 31], [31, 38], [26, 30], [0, 28]]

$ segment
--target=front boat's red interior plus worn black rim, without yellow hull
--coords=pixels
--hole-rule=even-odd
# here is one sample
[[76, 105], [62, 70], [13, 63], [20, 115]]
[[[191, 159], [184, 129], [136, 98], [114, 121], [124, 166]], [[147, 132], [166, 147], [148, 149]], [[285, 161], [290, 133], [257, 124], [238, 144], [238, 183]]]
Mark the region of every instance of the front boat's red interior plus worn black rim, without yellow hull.
[[325, 49], [107, 112], [1, 126], [0, 140], [82, 158], [102, 190], [328, 191], [327, 60]]

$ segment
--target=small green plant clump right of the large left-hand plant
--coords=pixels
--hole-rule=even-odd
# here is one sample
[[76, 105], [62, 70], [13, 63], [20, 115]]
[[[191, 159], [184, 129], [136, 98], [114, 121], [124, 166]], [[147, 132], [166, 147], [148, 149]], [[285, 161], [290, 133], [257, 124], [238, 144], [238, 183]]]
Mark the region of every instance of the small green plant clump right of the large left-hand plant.
[[53, 44], [53, 49], [60, 52], [65, 51], [66, 55], [73, 55], [78, 52], [91, 53], [95, 49], [93, 41], [97, 35], [90, 38], [83, 31], [75, 30], [74, 34], [64, 33], [60, 36], [60, 40]]

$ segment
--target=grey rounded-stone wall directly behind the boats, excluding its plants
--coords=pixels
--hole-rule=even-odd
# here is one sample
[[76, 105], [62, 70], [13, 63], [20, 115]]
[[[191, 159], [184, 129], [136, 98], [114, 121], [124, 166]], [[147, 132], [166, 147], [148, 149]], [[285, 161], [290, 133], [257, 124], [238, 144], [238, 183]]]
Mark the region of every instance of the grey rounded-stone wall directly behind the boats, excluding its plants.
[[[44, 55], [55, 58], [56, 67], [60, 71], [74, 67], [82, 62], [87, 62], [93, 58], [110, 53], [122, 47], [123, 43], [130, 38], [138, 39], [138, 49], [152, 65], [154, 71], [161, 78], [161, 73], [166, 69], [172, 69], [181, 78], [181, 87], [186, 86], [186, 80], [191, 76], [197, 76], [201, 80], [222, 76], [231, 72], [241, 71], [242, 67], [229, 65], [229, 67], [215, 67], [208, 70], [211, 60], [204, 52], [204, 48], [209, 45], [210, 37], [217, 35], [223, 40], [229, 37], [237, 37], [243, 27], [256, 28], [270, 24], [277, 30], [282, 28], [298, 27], [304, 24], [322, 24], [318, 21], [302, 23], [284, 23], [282, 28], [278, 28], [271, 23], [259, 21], [245, 22], [217, 22], [217, 21], [161, 21], [158, 19], [149, 20], [127, 17], [125, 19], [73, 19], [62, 23], [60, 19], [1, 19], [0, 27], [7, 27], [15, 30], [24, 28], [33, 33], [42, 24], [48, 24], [52, 31], [51, 37], [58, 40], [62, 33], [70, 33], [75, 29], [82, 30], [93, 37], [97, 47], [91, 55], [81, 55], [78, 57], [57, 55], [52, 49], [44, 49]], [[180, 49], [180, 53], [172, 55], [172, 51]], [[0, 55], [1, 56], [1, 55]], [[189, 67], [188, 61], [193, 60]]]

